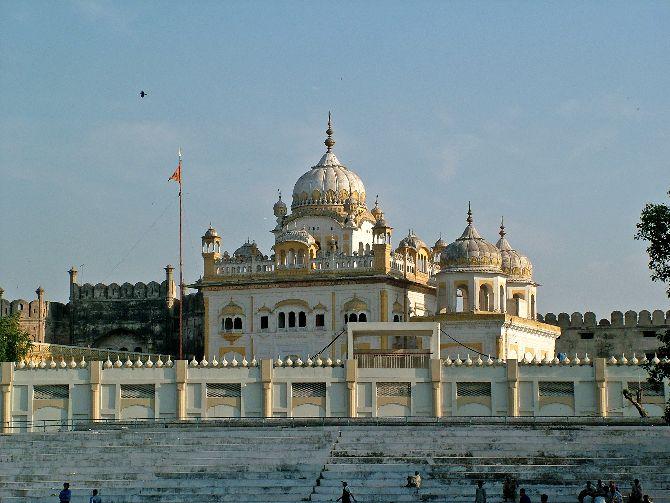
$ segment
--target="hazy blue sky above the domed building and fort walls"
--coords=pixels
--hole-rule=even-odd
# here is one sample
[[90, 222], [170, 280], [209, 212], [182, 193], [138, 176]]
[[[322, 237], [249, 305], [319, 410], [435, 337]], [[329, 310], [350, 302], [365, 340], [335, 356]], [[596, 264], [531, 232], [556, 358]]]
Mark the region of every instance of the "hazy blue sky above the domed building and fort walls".
[[[535, 265], [540, 312], [668, 308], [633, 240], [666, 201], [668, 2], [0, 4], [0, 286], [185, 275], [209, 222], [270, 253], [272, 204], [323, 151], [397, 243], [458, 237], [468, 200]], [[140, 100], [138, 92], [149, 96]]]

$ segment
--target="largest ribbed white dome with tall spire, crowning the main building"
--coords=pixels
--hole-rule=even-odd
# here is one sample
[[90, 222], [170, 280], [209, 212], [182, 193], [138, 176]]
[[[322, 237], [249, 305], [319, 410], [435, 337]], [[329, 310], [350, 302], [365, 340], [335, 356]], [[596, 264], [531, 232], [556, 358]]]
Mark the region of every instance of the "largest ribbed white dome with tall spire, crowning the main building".
[[306, 206], [343, 208], [349, 197], [354, 205], [365, 204], [365, 186], [360, 177], [347, 169], [332, 151], [335, 140], [332, 138], [330, 114], [326, 134], [326, 153], [316, 166], [298, 178], [293, 187], [292, 210]]

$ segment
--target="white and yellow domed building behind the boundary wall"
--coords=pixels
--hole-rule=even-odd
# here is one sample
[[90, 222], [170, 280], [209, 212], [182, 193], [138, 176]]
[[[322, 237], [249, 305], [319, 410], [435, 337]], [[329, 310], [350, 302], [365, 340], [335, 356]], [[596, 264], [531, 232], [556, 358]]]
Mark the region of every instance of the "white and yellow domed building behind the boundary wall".
[[[497, 245], [486, 241], [470, 211], [453, 243], [440, 237], [429, 247], [410, 230], [394, 248], [379, 201], [368, 209], [361, 177], [333, 151], [330, 116], [326, 133], [326, 152], [298, 177], [290, 211], [281, 192], [273, 205], [269, 254], [251, 240], [222, 253], [222, 236], [211, 226], [202, 237], [204, 274], [192, 286], [204, 298], [206, 356], [304, 357], [327, 348], [331, 358], [343, 358], [347, 343], [340, 336], [350, 323], [374, 324], [383, 332], [387, 322], [418, 320], [467, 326], [466, 338], [476, 347], [506, 354], [511, 342], [501, 342], [491, 326], [509, 326], [512, 319], [537, 324], [530, 261], [509, 245], [504, 230]], [[497, 316], [493, 325], [491, 316]], [[421, 337], [380, 334], [359, 340], [355, 349], [425, 351], [428, 344]], [[441, 350], [451, 344], [445, 341]], [[553, 353], [553, 346], [516, 346]]]

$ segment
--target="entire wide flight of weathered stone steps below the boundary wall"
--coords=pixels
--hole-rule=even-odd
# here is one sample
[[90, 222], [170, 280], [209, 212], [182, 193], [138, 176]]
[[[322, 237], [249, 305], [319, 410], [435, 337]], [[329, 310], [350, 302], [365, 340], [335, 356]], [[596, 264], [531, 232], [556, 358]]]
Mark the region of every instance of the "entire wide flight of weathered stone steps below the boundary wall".
[[[484, 480], [501, 501], [513, 475], [533, 503], [576, 503], [584, 481], [633, 478], [670, 503], [666, 426], [384, 424], [127, 426], [0, 436], [0, 503], [333, 501], [346, 480], [361, 503], [471, 503]], [[418, 470], [420, 490], [402, 487]]]

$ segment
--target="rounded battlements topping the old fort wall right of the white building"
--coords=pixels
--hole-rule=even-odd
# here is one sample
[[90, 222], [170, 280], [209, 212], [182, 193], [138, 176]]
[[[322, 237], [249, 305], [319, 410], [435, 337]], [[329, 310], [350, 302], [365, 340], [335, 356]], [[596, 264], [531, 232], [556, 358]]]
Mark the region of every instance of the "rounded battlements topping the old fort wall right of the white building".
[[644, 327], [664, 327], [670, 326], [670, 311], [665, 313], [660, 309], [653, 312], [642, 310], [639, 313], [636, 311], [612, 311], [610, 318], [601, 318], [598, 321], [595, 313], [586, 311], [585, 313], [574, 312], [572, 314], [559, 313], [558, 316], [554, 313], [547, 313], [544, 316], [538, 314], [538, 321], [548, 323], [550, 325], [557, 325], [561, 328], [584, 328], [584, 327], [629, 327], [629, 328], [644, 328]]

